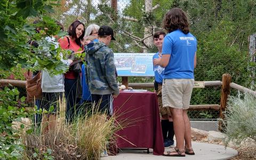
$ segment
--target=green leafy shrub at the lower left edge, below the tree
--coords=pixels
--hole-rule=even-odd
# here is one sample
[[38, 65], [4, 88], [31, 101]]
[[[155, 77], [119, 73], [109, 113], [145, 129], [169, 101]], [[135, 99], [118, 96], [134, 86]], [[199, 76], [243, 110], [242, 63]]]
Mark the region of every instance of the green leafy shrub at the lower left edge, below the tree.
[[[25, 97], [19, 99], [19, 91], [5, 87], [0, 89], [0, 159], [20, 159], [23, 145], [20, 136], [12, 128], [14, 120], [20, 121], [26, 117], [22, 102]], [[21, 128], [24, 126], [20, 126]]]

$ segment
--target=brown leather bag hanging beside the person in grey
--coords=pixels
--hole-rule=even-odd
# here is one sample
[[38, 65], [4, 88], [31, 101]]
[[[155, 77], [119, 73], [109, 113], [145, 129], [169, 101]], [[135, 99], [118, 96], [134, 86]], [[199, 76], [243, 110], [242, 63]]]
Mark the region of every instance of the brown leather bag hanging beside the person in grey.
[[[29, 75], [29, 71], [28, 71]], [[30, 76], [27, 77], [26, 91], [27, 91], [27, 101], [33, 102], [34, 98], [41, 99], [43, 98], [43, 92], [41, 88], [41, 71], [33, 78]]]

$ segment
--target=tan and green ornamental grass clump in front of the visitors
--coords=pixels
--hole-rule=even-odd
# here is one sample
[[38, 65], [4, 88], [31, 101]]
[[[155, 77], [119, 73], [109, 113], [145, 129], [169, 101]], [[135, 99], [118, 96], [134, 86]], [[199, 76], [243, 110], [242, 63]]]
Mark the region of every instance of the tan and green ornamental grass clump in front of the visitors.
[[[66, 106], [59, 104], [60, 108]], [[100, 159], [101, 153], [113, 145], [115, 132], [122, 125], [116, 123], [116, 116], [95, 111], [97, 107], [92, 105], [72, 123], [66, 123], [60, 111], [56, 131], [42, 135], [37, 130], [24, 135], [25, 159]]]

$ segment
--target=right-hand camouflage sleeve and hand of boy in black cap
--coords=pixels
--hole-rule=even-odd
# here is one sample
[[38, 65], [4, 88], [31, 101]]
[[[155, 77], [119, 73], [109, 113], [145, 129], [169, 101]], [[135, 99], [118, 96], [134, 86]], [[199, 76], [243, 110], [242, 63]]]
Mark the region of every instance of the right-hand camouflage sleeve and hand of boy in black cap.
[[105, 58], [105, 66], [101, 66], [105, 70], [107, 81], [111, 89], [114, 91], [113, 97], [116, 98], [119, 94], [119, 88], [116, 83], [116, 74], [115, 74], [115, 63], [114, 63], [114, 53], [111, 50], [106, 50], [108, 53]]

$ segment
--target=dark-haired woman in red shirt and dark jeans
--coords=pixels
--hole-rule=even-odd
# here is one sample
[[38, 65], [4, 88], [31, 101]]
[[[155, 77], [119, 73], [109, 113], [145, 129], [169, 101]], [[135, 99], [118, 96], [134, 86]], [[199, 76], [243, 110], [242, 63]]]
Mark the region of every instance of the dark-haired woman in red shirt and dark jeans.
[[[75, 20], [68, 28], [68, 35], [59, 39], [59, 44], [62, 49], [72, 50], [74, 52], [83, 50], [84, 24]], [[71, 68], [71, 67], [70, 67]], [[82, 86], [81, 86], [81, 71], [69, 69], [65, 74], [65, 97], [67, 102], [66, 121], [72, 122], [75, 114], [78, 113], [81, 107]]]

